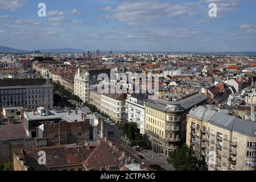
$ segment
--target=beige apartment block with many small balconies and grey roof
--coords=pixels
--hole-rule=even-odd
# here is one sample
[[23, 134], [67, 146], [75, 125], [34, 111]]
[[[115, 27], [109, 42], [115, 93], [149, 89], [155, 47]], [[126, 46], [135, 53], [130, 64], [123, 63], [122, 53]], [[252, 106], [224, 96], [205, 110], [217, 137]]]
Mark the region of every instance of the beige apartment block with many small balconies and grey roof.
[[187, 145], [210, 171], [256, 170], [256, 123], [204, 106], [187, 115]]

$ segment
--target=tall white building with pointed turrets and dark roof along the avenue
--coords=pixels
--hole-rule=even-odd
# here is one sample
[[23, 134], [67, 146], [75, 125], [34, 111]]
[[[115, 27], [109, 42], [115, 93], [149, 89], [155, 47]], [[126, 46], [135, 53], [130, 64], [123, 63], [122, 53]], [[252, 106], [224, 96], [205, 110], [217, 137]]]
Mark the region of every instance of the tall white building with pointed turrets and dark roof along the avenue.
[[110, 69], [81, 71], [80, 68], [78, 68], [74, 77], [75, 95], [79, 96], [82, 101], [88, 102], [89, 88], [90, 86], [100, 82], [98, 80], [98, 75], [101, 73], [105, 73], [106, 75], [110, 76]]

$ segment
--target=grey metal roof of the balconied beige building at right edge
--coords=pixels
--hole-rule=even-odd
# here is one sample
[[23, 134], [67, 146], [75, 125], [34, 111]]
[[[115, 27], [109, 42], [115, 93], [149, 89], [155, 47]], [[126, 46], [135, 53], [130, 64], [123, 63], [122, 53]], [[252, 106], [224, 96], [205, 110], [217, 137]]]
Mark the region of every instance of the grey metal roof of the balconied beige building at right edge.
[[247, 136], [256, 136], [256, 122], [218, 113], [217, 111], [206, 109], [204, 106], [192, 109], [188, 116], [207, 121], [212, 125], [229, 131], [236, 131]]

